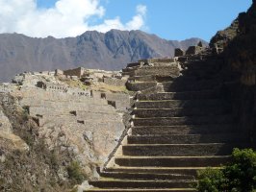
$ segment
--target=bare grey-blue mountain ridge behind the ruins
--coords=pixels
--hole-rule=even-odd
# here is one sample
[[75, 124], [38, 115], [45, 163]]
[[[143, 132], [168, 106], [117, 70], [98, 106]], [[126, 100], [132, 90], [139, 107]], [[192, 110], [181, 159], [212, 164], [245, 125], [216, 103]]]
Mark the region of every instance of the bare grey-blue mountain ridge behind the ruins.
[[[19, 34], [0, 35], [0, 82], [9, 82], [24, 71], [49, 71], [77, 66], [120, 70], [128, 62], [172, 57], [176, 47], [187, 49], [199, 38], [166, 40], [141, 31], [89, 31], [81, 36], [33, 38]], [[207, 44], [206, 41], [203, 41]]]

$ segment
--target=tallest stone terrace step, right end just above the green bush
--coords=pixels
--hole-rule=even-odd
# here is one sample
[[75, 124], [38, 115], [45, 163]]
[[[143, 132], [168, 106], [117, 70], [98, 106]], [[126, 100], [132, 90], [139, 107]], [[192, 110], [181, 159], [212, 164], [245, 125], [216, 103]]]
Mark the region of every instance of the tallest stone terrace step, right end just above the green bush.
[[229, 156], [244, 143], [129, 144], [122, 146], [123, 156]]

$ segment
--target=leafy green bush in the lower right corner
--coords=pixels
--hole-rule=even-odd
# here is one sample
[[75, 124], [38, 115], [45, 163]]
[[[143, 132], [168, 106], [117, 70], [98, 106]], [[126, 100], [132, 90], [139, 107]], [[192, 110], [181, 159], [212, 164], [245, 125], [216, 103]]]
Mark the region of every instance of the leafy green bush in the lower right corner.
[[223, 169], [208, 168], [198, 172], [199, 192], [256, 191], [256, 152], [234, 149], [232, 161]]

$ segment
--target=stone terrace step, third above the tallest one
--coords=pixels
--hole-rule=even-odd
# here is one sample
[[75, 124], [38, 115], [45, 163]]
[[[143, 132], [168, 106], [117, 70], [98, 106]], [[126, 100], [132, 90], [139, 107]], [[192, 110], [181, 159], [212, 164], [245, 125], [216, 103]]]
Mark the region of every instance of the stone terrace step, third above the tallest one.
[[229, 124], [233, 122], [231, 115], [208, 115], [186, 117], [151, 117], [133, 118], [134, 126], [171, 126], [171, 125], [202, 125]]

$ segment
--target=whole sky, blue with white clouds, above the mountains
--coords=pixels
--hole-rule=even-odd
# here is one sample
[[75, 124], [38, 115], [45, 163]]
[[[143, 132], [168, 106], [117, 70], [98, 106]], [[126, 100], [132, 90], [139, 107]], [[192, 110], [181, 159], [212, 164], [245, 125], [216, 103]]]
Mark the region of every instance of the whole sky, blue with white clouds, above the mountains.
[[[5, 0], [0, 0], [0, 4], [1, 1]], [[33, 1], [36, 8], [32, 5]], [[86, 3], [83, 4], [83, 1]], [[140, 29], [166, 39], [181, 40], [196, 36], [210, 40], [218, 30], [230, 25], [239, 12], [245, 12], [252, 1], [24, 0], [24, 2], [26, 2], [26, 5], [25, 3], [23, 5], [24, 12], [20, 15], [15, 14], [14, 19], [10, 19], [13, 22], [15, 16], [17, 17], [13, 24], [7, 23], [9, 17], [5, 18], [0, 13], [0, 24], [1, 19], [7, 23], [7, 26], [5, 23], [2, 24], [0, 33], [17, 32], [28, 36], [65, 37], [78, 36], [87, 30], [106, 32], [116, 28]], [[28, 4], [31, 4], [31, 7], [28, 7]], [[14, 9], [17, 5], [10, 3], [10, 6]], [[18, 6], [21, 10], [22, 6]], [[25, 6], [28, 8], [25, 9]], [[87, 9], [87, 6], [90, 9]], [[69, 8], [70, 12], [68, 12]], [[25, 11], [29, 9], [33, 9], [33, 14]], [[1, 8], [0, 12], [3, 12]], [[35, 17], [34, 20], [31, 15]]]

